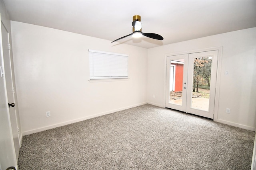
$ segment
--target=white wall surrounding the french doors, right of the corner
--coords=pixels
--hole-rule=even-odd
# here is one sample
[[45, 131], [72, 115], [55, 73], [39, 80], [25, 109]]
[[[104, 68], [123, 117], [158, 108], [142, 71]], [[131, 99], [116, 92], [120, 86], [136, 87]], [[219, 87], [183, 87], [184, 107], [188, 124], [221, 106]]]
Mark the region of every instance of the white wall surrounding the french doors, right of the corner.
[[[165, 55], [223, 47], [218, 111], [214, 121], [255, 130], [256, 28], [164, 45], [148, 50], [148, 103], [165, 107]], [[225, 76], [224, 71], [229, 75]], [[152, 95], [155, 98], [152, 98]], [[231, 113], [225, 113], [226, 108]]]

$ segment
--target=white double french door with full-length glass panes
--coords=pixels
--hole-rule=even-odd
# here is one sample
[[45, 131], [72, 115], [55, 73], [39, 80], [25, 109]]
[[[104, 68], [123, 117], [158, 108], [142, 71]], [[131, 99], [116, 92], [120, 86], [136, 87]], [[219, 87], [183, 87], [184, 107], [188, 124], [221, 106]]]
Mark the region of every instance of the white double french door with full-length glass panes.
[[218, 50], [167, 57], [166, 107], [213, 119]]

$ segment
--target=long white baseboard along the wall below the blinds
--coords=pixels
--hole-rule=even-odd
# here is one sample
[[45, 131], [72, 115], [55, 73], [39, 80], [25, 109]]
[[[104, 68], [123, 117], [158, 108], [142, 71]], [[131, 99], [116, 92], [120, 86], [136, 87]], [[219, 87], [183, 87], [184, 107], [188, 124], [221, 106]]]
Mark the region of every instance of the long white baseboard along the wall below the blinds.
[[79, 119], [73, 119], [73, 120], [70, 120], [70, 121], [65, 121], [65, 122], [57, 123], [57, 124], [50, 125], [50, 126], [40, 127], [38, 129], [32, 129], [32, 130], [29, 130], [29, 131], [24, 131], [24, 132], [22, 132], [22, 135], [30, 135], [32, 133], [46, 131], [46, 130], [53, 129], [53, 128], [56, 128], [56, 127], [61, 127], [61, 126], [64, 126], [64, 125], [69, 125], [71, 123], [76, 123], [76, 122], [79, 122], [79, 121], [84, 121], [86, 119], [91, 119], [91, 118], [94, 118], [94, 117], [98, 117], [98, 116], [102, 116], [102, 115], [107, 115], [107, 114], [110, 114], [110, 113], [114, 113], [116, 111], [130, 109], [132, 107], [137, 107], [137, 106], [141, 106], [141, 105], [144, 105], [144, 104], [148, 104], [148, 103], [144, 102], [144, 103], [135, 104], [135, 105], [132, 105], [132, 106], [121, 107], [119, 109], [114, 109], [114, 110], [110, 110], [110, 111], [106, 111], [106, 112], [102, 112], [102, 113], [97, 113], [97, 114], [86, 116], [86, 117], [82, 117], [82, 118], [79, 118]]

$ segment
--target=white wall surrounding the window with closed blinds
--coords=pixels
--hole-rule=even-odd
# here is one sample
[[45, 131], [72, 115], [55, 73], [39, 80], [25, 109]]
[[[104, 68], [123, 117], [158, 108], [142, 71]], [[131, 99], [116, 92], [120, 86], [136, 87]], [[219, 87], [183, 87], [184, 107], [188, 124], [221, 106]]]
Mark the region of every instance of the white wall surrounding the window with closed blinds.
[[[16, 21], [11, 27], [24, 135], [146, 104], [147, 49]], [[130, 79], [89, 82], [88, 49], [128, 54]]]

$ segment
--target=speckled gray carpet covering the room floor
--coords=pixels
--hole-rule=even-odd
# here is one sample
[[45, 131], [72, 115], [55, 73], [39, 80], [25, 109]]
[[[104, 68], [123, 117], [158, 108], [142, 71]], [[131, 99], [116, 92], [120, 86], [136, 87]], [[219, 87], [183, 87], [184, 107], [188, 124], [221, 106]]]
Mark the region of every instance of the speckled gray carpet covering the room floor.
[[149, 104], [26, 135], [19, 170], [249, 170], [255, 132]]

